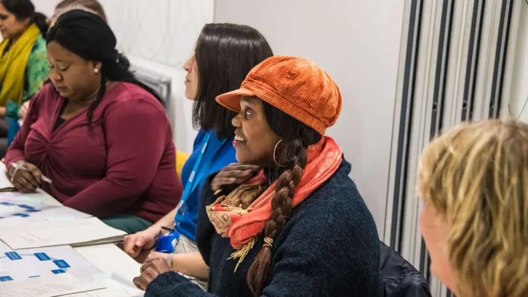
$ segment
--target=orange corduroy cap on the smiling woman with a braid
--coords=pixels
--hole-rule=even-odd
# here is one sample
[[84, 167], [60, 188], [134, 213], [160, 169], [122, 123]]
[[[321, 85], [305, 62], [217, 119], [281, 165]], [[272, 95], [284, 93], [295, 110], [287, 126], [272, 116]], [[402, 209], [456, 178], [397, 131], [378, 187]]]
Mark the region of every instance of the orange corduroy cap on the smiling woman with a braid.
[[216, 101], [239, 112], [240, 96], [258, 97], [321, 135], [335, 124], [342, 107], [338, 85], [302, 57], [269, 57], [249, 71], [238, 90], [219, 95]]

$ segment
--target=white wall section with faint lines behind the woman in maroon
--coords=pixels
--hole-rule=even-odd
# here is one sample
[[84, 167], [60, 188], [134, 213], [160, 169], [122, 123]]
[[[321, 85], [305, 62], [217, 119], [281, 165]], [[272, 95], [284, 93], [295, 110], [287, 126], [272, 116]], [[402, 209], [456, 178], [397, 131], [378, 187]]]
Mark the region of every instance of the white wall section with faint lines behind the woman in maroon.
[[[118, 38], [118, 48], [133, 64], [170, 76], [175, 105], [174, 140], [190, 152], [196, 132], [192, 102], [185, 98], [183, 63], [207, 22], [213, 21], [214, 0], [99, 0]], [[34, 0], [37, 11], [50, 16], [58, 0]]]

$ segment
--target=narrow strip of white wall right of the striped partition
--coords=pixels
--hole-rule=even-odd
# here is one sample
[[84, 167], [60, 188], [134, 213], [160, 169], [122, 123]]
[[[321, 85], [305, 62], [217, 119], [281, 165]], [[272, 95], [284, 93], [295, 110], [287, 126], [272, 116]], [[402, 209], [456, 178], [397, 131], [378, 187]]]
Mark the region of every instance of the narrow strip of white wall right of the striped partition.
[[[523, 1], [524, 2], [524, 1]], [[524, 4], [524, 3], [523, 3]], [[510, 93], [510, 117], [528, 123], [528, 5], [522, 6]], [[527, 104], [528, 105], [528, 104]]]

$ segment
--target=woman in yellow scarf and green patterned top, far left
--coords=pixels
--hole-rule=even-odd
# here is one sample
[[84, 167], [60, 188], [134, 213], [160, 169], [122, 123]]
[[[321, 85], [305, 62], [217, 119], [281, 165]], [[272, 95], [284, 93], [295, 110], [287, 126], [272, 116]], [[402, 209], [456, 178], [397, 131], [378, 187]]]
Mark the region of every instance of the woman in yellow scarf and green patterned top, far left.
[[8, 136], [8, 144], [19, 129], [20, 105], [48, 77], [46, 32], [46, 16], [35, 12], [32, 1], [0, 0], [0, 137]]

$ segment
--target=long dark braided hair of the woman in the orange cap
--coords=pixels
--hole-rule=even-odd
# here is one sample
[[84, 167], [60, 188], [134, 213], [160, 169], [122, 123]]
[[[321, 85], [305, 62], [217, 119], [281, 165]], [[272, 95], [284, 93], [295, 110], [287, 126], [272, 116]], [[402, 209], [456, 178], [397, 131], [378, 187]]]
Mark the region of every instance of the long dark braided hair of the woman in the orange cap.
[[[293, 195], [308, 162], [307, 148], [312, 144], [317, 144], [322, 136], [284, 111], [266, 102], [263, 104], [268, 125], [282, 139], [275, 157], [277, 162], [284, 167], [281, 168], [281, 173], [275, 183], [275, 196], [271, 202], [272, 214], [264, 226], [264, 237], [275, 240], [293, 210], [291, 205]], [[268, 279], [270, 262], [271, 248], [264, 245], [247, 273], [249, 289], [255, 296], [260, 296]]]

